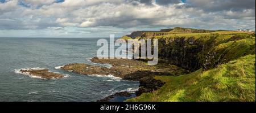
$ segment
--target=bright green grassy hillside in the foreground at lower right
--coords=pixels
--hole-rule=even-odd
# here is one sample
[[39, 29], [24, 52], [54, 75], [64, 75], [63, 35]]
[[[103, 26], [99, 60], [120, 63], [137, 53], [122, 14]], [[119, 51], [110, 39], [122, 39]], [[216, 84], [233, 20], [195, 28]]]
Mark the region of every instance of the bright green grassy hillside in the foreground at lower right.
[[152, 93], [127, 101], [255, 101], [255, 55], [188, 75], [155, 76], [166, 82]]

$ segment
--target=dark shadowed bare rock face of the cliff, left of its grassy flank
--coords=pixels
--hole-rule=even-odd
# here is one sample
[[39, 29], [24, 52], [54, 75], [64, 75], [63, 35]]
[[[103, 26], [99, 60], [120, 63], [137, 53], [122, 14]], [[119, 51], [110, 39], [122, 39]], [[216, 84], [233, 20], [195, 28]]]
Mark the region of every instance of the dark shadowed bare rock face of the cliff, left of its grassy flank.
[[203, 49], [193, 37], [160, 38], [159, 58], [169, 60], [176, 66], [195, 70], [201, 66], [198, 53]]

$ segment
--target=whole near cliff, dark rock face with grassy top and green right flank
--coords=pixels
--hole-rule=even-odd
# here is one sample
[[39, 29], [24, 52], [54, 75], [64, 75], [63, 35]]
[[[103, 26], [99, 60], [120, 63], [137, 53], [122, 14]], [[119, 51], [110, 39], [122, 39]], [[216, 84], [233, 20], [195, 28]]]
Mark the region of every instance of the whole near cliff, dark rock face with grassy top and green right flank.
[[207, 34], [198, 36], [159, 36], [159, 58], [195, 71], [255, 54], [253, 34]]

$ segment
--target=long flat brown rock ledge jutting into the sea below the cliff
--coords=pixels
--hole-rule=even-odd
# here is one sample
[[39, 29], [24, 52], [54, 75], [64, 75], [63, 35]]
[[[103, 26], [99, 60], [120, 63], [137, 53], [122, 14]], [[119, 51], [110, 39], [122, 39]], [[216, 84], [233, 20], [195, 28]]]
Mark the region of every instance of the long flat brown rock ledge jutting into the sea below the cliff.
[[164, 75], [176, 76], [182, 73], [188, 73], [183, 68], [171, 65], [167, 62], [159, 62], [155, 66], [149, 66], [146, 62], [135, 59], [98, 59], [92, 58], [92, 62], [101, 64], [112, 64], [112, 68], [91, 66], [89, 64], [73, 63], [67, 64], [61, 69], [73, 71], [83, 75], [113, 75], [121, 77], [123, 80], [139, 81], [143, 77]]

